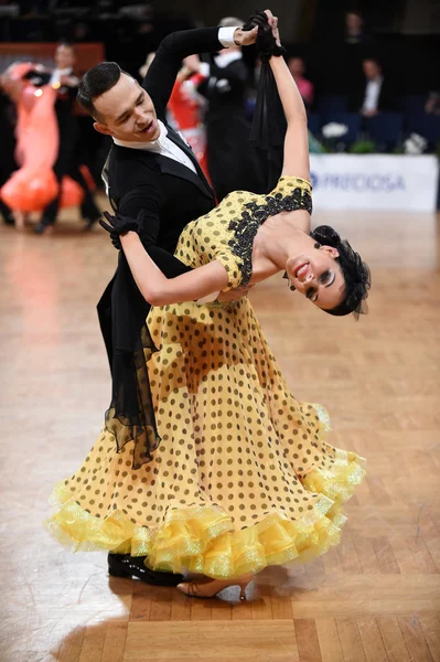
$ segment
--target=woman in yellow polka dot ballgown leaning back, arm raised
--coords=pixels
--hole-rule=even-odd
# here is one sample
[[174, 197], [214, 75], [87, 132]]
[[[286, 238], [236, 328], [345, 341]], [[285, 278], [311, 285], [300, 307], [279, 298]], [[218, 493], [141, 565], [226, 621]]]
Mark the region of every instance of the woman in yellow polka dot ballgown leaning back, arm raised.
[[270, 67], [288, 122], [282, 175], [268, 195], [230, 193], [186, 226], [175, 255], [192, 271], [168, 279], [132, 221], [127, 232], [127, 220], [107, 215], [153, 306], [147, 327], [158, 351], [144, 350], [138, 398], [141, 407], [149, 378], [160, 437], [108, 416], [83, 466], [56, 488], [50, 521], [75, 549], [203, 574], [178, 586], [197, 597], [239, 585], [244, 598], [266, 566], [337, 544], [342, 505], [364, 474], [363, 458], [329, 444], [326, 412], [291, 395], [248, 299], [195, 302], [278, 271], [333, 314], [362, 311], [367, 296], [368, 269], [350, 245], [328, 227], [310, 233], [305, 110], [283, 58], [271, 56]]

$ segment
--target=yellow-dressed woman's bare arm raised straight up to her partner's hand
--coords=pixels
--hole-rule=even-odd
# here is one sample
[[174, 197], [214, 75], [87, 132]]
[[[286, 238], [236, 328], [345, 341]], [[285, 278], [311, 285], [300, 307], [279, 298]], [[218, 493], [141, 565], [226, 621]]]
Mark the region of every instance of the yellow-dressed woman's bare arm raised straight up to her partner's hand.
[[[277, 19], [271, 15], [268, 18], [273, 35], [279, 39]], [[310, 180], [309, 135], [304, 103], [285, 58], [272, 56], [269, 63], [287, 120], [282, 174]]]

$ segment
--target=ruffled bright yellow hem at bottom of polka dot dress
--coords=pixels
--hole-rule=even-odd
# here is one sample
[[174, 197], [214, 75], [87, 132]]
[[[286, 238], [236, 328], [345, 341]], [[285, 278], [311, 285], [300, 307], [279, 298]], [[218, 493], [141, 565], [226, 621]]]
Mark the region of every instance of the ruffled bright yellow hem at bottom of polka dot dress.
[[228, 515], [213, 505], [175, 509], [157, 530], [133, 524], [124, 513], [105, 520], [85, 512], [67, 493], [64, 484], [53, 499], [61, 503], [46, 523], [60, 542], [74, 551], [107, 549], [119, 554], [147, 556], [155, 570], [181, 573], [187, 569], [208, 577], [226, 579], [258, 573], [266, 566], [287, 562], [307, 563], [340, 542], [347, 501], [365, 474], [359, 458], [343, 453], [331, 471], [314, 470], [302, 479], [320, 500], [300, 520], [272, 512], [261, 521], [234, 531]]

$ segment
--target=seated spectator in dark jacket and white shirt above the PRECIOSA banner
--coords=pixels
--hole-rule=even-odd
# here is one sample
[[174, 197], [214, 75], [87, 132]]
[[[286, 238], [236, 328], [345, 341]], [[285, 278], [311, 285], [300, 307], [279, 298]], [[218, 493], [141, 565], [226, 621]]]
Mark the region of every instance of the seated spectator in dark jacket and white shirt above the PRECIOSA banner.
[[373, 117], [380, 111], [396, 110], [397, 96], [393, 84], [384, 76], [377, 60], [366, 58], [362, 63], [365, 82], [351, 98], [351, 110], [364, 117]]

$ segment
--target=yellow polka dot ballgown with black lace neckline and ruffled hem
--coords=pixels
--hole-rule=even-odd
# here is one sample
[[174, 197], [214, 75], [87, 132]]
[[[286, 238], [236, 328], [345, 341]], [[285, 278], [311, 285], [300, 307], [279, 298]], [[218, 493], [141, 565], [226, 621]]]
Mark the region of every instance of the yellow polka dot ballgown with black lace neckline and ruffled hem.
[[[218, 259], [228, 288], [243, 285], [259, 225], [286, 209], [311, 210], [305, 180], [281, 178], [267, 196], [230, 193], [186, 226], [175, 255], [192, 267]], [[135, 470], [133, 442], [118, 453], [103, 430], [56, 487], [52, 532], [75, 549], [217, 578], [337, 544], [363, 458], [331, 446], [326, 412], [291, 395], [248, 299], [152, 308], [148, 325], [159, 350], [149, 361], [159, 448]]]

